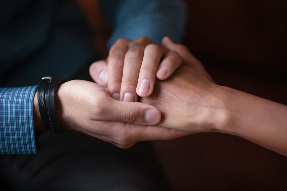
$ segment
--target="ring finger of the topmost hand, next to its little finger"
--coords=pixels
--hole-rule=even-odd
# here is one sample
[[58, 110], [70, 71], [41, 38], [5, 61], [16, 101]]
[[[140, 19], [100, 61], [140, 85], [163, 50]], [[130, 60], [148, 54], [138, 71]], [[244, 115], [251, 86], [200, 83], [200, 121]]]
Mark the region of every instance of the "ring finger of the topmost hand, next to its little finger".
[[156, 80], [155, 74], [162, 54], [163, 49], [158, 44], [149, 44], [145, 48], [136, 90], [139, 96], [147, 97], [152, 94]]

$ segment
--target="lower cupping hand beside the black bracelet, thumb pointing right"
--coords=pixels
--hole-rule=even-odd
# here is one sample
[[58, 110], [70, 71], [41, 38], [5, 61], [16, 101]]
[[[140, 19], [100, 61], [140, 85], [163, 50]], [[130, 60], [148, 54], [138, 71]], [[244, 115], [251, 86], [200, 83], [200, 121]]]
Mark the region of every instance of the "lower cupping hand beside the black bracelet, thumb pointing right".
[[154, 125], [161, 117], [154, 106], [117, 101], [104, 87], [93, 82], [65, 82], [58, 88], [56, 104], [61, 127], [121, 148], [131, 147], [137, 141], [168, 140], [189, 134]]

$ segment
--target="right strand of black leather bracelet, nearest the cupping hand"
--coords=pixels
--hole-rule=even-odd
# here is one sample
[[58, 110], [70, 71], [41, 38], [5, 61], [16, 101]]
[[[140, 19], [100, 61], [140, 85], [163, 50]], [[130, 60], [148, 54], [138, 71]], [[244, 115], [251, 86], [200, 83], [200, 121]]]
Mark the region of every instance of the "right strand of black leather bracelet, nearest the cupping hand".
[[52, 130], [59, 134], [63, 133], [63, 130], [61, 129], [58, 119], [57, 119], [57, 114], [56, 114], [56, 106], [55, 106], [55, 93], [57, 90], [57, 86], [59, 84], [62, 84], [64, 82], [67, 82], [68, 80], [66, 78], [57, 78], [57, 79], [52, 79], [49, 87], [47, 86], [46, 91], [46, 108], [47, 108], [47, 113], [50, 121], [50, 125], [52, 127]]

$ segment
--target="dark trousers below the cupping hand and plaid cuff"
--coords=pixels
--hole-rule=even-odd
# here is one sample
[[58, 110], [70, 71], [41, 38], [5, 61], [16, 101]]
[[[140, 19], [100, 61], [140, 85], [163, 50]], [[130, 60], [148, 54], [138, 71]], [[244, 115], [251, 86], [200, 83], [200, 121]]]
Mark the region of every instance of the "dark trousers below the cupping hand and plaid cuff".
[[149, 142], [120, 149], [74, 131], [39, 141], [38, 154], [0, 155], [0, 190], [169, 190]]

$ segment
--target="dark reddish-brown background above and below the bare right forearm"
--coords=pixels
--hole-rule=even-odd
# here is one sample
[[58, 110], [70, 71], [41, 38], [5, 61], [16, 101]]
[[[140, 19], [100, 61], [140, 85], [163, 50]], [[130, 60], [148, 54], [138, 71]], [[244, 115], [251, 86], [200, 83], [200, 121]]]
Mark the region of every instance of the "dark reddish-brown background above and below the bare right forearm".
[[[212, 78], [286, 105], [287, 1], [186, 3], [184, 44]], [[199, 133], [153, 143], [174, 190], [287, 190], [287, 157], [240, 137]]]

